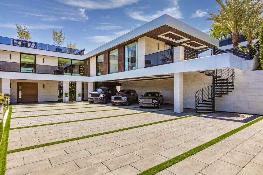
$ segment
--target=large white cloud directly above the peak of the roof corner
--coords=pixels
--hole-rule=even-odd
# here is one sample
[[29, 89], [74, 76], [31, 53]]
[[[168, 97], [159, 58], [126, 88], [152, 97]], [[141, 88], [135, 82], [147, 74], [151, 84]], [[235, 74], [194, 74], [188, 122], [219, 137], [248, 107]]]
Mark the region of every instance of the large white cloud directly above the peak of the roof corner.
[[167, 7], [161, 11], [158, 10], [153, 14], [145, 15], [143, 11], [127, 10], [127, 15], [133, 19], [146, 21], [146, 22], [149, 22], [164, 14], [170, 15], [174, 18], [179, 18], [179, 19], [183, 18], [182, 12], [179, 10], [179, 5], [177, 3], [177, 0], [169, 1], [169, 3], [170, 3], [170, 7]]

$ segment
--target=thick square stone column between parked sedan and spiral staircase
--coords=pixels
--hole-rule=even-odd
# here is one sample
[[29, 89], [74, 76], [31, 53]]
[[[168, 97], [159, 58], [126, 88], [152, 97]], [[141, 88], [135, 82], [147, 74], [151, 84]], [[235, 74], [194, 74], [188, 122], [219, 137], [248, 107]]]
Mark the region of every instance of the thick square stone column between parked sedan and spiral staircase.
[[174, 73], [174, 112], [183, 112], [183, 73]]

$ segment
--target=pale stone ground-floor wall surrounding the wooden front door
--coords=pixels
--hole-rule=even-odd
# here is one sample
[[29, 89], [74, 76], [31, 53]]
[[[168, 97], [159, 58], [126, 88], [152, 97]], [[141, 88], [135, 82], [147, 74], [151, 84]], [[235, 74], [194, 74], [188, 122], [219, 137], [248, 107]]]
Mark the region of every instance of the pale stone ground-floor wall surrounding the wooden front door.
[[[17, 82], [38, 83], [38, 101], [58, 101], [58, 81], [11, 80], [11, 103], [17, 102]], [[45, 89], [43, 84], [45, 83]]]

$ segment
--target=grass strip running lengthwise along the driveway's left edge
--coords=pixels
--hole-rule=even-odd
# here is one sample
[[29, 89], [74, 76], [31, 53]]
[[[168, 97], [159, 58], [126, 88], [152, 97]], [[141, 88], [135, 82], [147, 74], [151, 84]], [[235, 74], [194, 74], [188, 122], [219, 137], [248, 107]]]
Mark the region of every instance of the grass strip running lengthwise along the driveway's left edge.
[[11, 114], [12, 114], [12, 105], [9, 107], [9, 112], [6, 119], [3, 137], [0, 144], [0, 174], [5, 174], [6, 172], [6, 154], [8, 147], [8, 136], [9, 136]]

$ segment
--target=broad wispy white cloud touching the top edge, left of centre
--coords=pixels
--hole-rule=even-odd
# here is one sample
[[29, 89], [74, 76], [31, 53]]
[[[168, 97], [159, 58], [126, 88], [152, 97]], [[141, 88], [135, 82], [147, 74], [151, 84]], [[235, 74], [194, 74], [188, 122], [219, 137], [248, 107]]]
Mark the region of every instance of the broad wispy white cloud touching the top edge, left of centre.
[[139, 0], [58, 0], [63, 4], [87, 9], [114, 9], [137, 3]]

